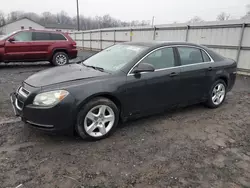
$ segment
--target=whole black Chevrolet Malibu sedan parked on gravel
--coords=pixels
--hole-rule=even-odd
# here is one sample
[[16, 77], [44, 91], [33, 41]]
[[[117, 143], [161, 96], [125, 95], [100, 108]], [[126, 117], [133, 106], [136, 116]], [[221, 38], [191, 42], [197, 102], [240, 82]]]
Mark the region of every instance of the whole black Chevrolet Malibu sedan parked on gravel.
[[130, 42], [83, 62], [38, 72], [11, 94], [14, 112], [45, 131], [102, 139], [119, 121], [205, 103], [219, 107], [235, 83], [236, 62], [184, 42]]

